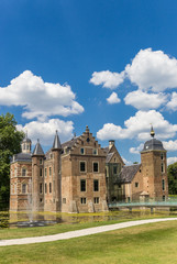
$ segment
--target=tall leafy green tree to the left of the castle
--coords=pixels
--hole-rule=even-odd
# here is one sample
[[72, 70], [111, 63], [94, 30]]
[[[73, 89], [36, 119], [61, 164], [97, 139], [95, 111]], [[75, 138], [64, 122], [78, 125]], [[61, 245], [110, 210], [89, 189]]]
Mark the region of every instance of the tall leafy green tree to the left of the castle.
[[10, 197], [10, 161], [21, 152], [24, 133], [16, 131], [16, 121], [11, 113], [0, 116], [0, 201], [8, 205]]

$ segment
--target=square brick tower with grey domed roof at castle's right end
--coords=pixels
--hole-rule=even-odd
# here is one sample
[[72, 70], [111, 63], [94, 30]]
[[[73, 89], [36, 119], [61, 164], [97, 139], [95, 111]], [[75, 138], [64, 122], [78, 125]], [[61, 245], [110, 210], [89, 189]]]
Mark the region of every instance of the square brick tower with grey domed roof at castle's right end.
[[143, 189], [150, 199], [166, 200], [168, 197], [166, 150], [163, 143], [154, 138], [153, 127], [151, 136], [141, 152]]

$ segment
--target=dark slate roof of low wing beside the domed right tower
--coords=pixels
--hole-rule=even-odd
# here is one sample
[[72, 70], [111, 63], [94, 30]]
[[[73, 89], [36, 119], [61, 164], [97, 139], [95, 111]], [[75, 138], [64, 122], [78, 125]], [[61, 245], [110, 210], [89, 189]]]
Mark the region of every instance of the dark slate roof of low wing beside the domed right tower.
[[119, 178], [124, 184], [131, 183], [135, 174], [139, 172], [140, 167], [141, 167], [141, 164], [133, 164], [130, 166], [122, 167], [122, 170], [119, 174]]

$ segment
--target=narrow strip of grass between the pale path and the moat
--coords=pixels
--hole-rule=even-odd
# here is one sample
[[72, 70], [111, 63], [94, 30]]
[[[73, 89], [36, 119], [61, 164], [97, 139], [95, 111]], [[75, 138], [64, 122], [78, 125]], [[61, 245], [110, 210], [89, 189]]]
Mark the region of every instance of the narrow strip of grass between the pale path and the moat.
[[[109, 212], [111, 215], [111, 212]], [[97, 213], [98, 215], [98, 213]], [[88, 216], [88, 213], [87, 213]], [[167, 215], [150, 215], [150, 216], [137, 216], [131, 219], [128, 217], [121, 218], [120, 220], [110, 220], [110, 221], [96, 221], [96, 222], [81, 222], [75, 224], [55, 224], [48, 227], [36, 227], [36, 228], [21, 228], [21, 229], [0, 229], [0, 240], [5, 239], [21, 239], [27, 237], [38, 237], [38, 235], [47, 235], [47, 234], [56, 234], [56, 233], [64, 233], [67, 231], [80, 230], [86, 228], [92, 227], [100, 227], [106, 224], [119, 223], [124, 221], [133, 221], [140, 219], [152, 219], [152, 218], [162, 218], [162, 217], [169, 217]]]

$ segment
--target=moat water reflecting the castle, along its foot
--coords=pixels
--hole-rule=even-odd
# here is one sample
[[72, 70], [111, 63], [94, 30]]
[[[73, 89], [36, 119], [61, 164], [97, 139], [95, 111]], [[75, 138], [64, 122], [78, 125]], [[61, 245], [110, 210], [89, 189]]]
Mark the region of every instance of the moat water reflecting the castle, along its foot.
[[[156, 211], [153, 216], [173, 216], [173, 211]], [[26, 228], [26, 227], [44, 227], [55, 223], [80, 223], [80, 222], [100, 222], [121, 219], [132, 219], [140, 217], [150, 217], [151, 211], [109, 211], [97, 213], [33, 213], [29, 219], [27, 212], [0, 212], [0, 228]]]

